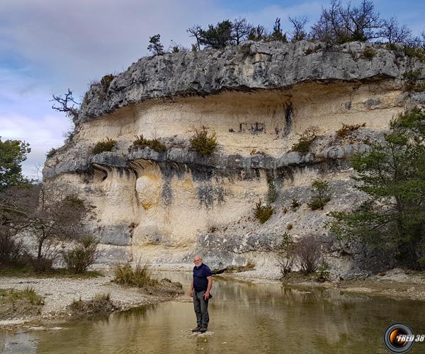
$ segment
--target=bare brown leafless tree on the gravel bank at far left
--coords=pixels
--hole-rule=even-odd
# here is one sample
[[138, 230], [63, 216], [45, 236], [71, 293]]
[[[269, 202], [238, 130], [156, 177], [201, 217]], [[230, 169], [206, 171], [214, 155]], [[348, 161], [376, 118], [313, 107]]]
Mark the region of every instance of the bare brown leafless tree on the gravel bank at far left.
[[33, 265], [51, 267], [60, 256], [63, 241], [79, 239], [84, 232], [82, 219], [89, 212], [79, 198], [65, 195], [50, 181], [27, 187], [8, 188], [0, 195], [2, 224], [14, 234], [27, 232], [36, 245]]

